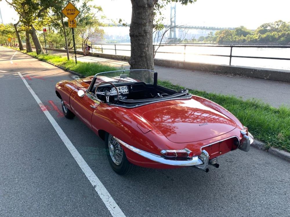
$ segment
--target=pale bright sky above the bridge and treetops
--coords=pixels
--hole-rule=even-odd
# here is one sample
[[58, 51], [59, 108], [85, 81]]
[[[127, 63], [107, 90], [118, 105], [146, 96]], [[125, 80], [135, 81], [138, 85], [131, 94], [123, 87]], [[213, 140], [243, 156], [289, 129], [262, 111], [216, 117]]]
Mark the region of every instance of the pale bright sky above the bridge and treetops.
[[[11, 1], [11, 0], [9, 0]], [[81, 1], [81, 0], [80, 0]], [[130, 0], [93, 0], [102, 6], [104, 14], [115, 21], [131, 22]], [[77, 7], [77, 5], [75, 5]], [[5, 0], [0, 1], [3, 23], [16, 23], [17, 13]], [[290, 1], [287, 0], [197, 0], [194, 4], [176, 4], [176, 24], [210, 27], [239, 27], [257, 29], [264, 23], [278, 20], [290, 22]], [[170, 6], [163, 12], [170, 19]], [[0, 23], [1, 23], [0, 19]], [[167, 23], [166, 23], [167, 24]]]

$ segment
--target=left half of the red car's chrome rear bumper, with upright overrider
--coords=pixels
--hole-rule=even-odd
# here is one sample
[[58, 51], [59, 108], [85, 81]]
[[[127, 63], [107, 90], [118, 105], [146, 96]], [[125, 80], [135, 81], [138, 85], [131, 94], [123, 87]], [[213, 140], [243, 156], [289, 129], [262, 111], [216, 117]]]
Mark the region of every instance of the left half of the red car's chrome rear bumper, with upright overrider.
[[[208, 163], [209, 163], [209, 154], [203, 150], [202, 154], [200, 156], [194, 156], [192, 159], [188, 160], [174, 160], [174, 159], [166, 159], [159, 155], [155, 155], [143, 150], [140, 150], [138, 148], [135, 148], [133, 146], [130, 146], [129, 144], [123, 142], [122, 140], [114, 137], [120, 144], [125, 146], [126, 148], [130, 149], [131, 151], [135, 152], [138, 155], [141, 155], [142, 157], [145, 157], [149, 160], [155, 161], [157, 163], [162, 163], [166, 165], [172, 165], [172, 166], [195, 166], [195, 165], [203, 165], [200, 167], [201, 169], [206, 169]], [[204, 163], [205, 162], [205, 163]]]

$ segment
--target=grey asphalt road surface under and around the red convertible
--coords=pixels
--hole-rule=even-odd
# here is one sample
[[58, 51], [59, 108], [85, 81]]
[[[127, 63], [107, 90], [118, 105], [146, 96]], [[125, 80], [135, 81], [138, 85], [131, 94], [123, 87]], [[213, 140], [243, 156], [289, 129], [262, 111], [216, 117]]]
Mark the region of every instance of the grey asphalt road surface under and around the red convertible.
[[[1, 217], [290, 216], [289, 162], [251, 148], [222, 155], [220, 168], [208, 173], [136, 167], [119, 176], [110, 168], [104, 142], [79, 119], [61, 114], [55, 84], [71, 79], [70, 73], [3, 47], [0, 70]], [[18, 72], [43, 103], [42, 109]], [[46, 110], [120, 213], [109, 212]]]

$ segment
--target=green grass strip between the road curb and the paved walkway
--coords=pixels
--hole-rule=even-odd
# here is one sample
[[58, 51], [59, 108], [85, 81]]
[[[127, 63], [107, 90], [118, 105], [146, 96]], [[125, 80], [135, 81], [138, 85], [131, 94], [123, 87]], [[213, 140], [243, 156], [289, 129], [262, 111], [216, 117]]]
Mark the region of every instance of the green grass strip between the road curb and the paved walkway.
[[[28, 53], [40, 60], [46, 60], [65, 69], [75, 71], [84, 76], [95, 75], [104, 71], [115, 71], [120, 68], [111, 67], [100, 63], [78, 62], [67, 60], [67, 57], [57, 55], [37, 55], [36, 52]], [[169, 81], [158, 81], [158, 84], [170, 89], [185, 89], [173, 85]], [[189, 89], [191, 94], [204, 97], [216, 102], [235, 115], [244, 126], [249, 128], [255, 139], [263, 141], [267, 147], [276, 147], [290, 152], [290, 109], [284, 106], [274, 108], [258, 100], [242, 100], [235, 96], [206, 93]]]

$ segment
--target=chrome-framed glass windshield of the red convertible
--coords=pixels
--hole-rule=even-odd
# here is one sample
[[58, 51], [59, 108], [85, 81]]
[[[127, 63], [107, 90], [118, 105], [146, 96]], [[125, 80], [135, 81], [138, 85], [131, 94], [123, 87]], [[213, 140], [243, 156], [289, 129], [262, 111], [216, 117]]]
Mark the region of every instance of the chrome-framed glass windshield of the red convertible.
[[154, 73], [156, 72], [145, 69], [120, 70], [98, 73], [96, 77], [97, 80], [111, 83], [142, 81], [146, 84], [154, 84]]

